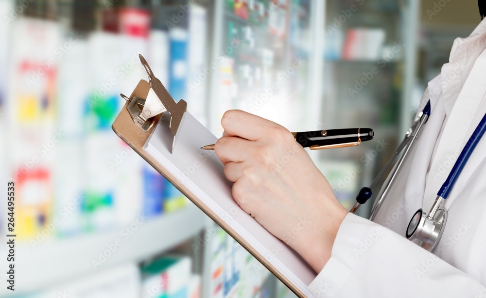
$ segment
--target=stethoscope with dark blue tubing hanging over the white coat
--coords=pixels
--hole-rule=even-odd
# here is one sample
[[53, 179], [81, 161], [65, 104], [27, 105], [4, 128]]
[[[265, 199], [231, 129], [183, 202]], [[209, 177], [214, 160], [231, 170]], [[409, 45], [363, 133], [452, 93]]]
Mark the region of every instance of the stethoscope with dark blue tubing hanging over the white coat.
[[[405, 152], [400, 156], [398, 162], [393, 167], [390, 175], [383, 183], [382, 190], [375, 200], [375, 204], [369, 217], [370, 220], [375, 219], [376, 214], [380, 210], [386, 194], [390, 189], [390, 186], [394, 182], [400, 167], [402, 166], [406, 157], [409, 155], [411, 148], [413, 148], [414, 144], [416, 143], [420, 132], [423, 130], [424, 124], [429, 119], [430, 112], [431, 105], [429, 100], [425, 105], [425, 108], [414, 119], [412, 126], [405, 134], [405, 138], [399, 144], [397, 150], [395, 150], [392, 157], [390, 157], [380, 173], [378, 173], [377, 177], [373, 180], [370, 187], [361, 188], [358, 196], [356, 197], [356, 204], [354, 204], [353, 208], [351, 208], [351, 211], [349, 212], [355, 213], [356, 210], [358, 210], [358, 208], [361, 206], [361, 204], [366, 203], [366, 201], [371, 198], [371, 189], [375, 187], [378, 181], [380, 181], [386, 170], [391, 166], [393, 160], [395, 160], [395, 158], [399, 156], [401, 151], [406, 148]], [[422, 209], [418, 209], [410, 220], [405, 233], [406, 237], [409, 240], [419, 239], [419, 245], [428, 251], [433, 251], [434, 248], [437, 246], [437, 243], [439, 242], [442, 233], [444, 232], [444, 227], [447, 221], [447, 210], [441, 208], [441, 205], [448, 198], [451, 189], [454, 187], [454, 184], [457, 181], [457, 178], [464, 169], [464, 166], [468, 162], [469, 157], [476, 148], [476, 145], [483, 137], [485, 131], [486, 114], [483, 116], [483, 119], [481, 119], [478, 126], [470, 136], [469, 141], [462, 149], [459, 157], [457, 157], [457, 160], [452, 167], [451, 173], [449, 173], [446, 181], [444, 182], [444, 184], [442, 184], [441, 188], [437, 192], [437, 197], [435, 198], [434, 204], [432, 205], [429, 213], [426, 214]]]

